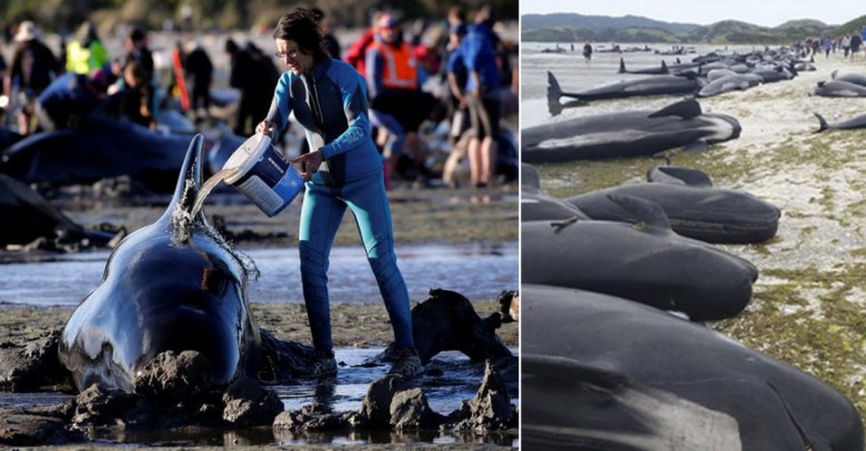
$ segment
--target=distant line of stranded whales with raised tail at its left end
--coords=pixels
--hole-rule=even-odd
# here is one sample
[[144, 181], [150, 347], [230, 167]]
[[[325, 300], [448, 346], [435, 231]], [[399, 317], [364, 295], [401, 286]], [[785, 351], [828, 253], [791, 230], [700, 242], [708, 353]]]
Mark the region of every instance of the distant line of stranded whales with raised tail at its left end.
[[[563, 91], [552, 72], [547, 72], [547, 109], [556, 116], [565, 108], [590, 101], [623, 99], [640, 96], [713, 97], [731, 91], [744, 91], [762, 83], [791, 80], [800, 71], [815, 70], [813, 61], [804, 61], [787, 49], [721, 54], [711, 52], [695, 57], [691, 62], [659, 67], [627, 69], [620, 59], [617, 73], [645, 74], [603, 83], [583, 91]], [[562, 103], [561, 98], [573, 99]]]

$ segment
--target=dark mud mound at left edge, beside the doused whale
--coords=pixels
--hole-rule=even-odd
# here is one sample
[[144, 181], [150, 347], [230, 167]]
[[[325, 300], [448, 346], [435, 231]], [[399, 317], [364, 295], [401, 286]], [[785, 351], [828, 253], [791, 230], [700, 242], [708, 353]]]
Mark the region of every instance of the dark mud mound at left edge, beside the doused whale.
[[42, 333], [36, 340], [0, 343], [0, 388], [32, 391], [66, 384], [67, 371], [57, 359], [60, 330]]

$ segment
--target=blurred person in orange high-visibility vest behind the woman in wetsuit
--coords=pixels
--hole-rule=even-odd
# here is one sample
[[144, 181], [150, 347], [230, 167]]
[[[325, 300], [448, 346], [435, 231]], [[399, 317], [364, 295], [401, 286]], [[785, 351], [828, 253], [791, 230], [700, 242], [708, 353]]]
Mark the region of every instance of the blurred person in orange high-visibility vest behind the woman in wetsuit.
[[409, 162], [410, 168], [397, 171], [407, 179], [421, 177], [427, 182], [426, 152], [417, 130], [433, 111], [436, 99], [421, 90], [422, 73], [414, 49], [403, 40], [397, 19], [391, 13], [382, 14], [376, 22], [375, 41], [366, 51], [371, 122], [380, 130], [377, 143], [384, 148], [384, 157], [394, 164]]

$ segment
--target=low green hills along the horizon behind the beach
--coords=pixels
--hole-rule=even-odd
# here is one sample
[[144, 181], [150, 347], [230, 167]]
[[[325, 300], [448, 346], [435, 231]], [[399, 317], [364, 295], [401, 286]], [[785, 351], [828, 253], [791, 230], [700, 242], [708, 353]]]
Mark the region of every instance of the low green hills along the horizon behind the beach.
[[840, 38], [858, 31], [866, 17], [843, 26], [828, 26], [818, 20], [793, 20], [767, 28], [752, 23], [723, 20], [709, 26], [672, 23], [636, 16], [620, 18], [576, 13], [524, 14], [521, 38], [543, 42], [663, 42], [716, 44], [791, 44], [808, 37]]

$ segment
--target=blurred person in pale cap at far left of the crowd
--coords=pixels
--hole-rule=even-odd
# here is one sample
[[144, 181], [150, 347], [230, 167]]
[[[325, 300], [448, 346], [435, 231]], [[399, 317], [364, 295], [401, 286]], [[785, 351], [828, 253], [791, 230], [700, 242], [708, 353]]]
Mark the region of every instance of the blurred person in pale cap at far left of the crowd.
[[20, 111], [18, 132], [30, 134], [32, 131], [36, 99], [51, 84], [51, 80], [63, 71], [54, 53], [42, 43], [36, 23], [26, 20], [18, 26], [14, 36], [16, 50], [12, 63], [3, 80], [3, 92], [12, 96], [18, 91]]

